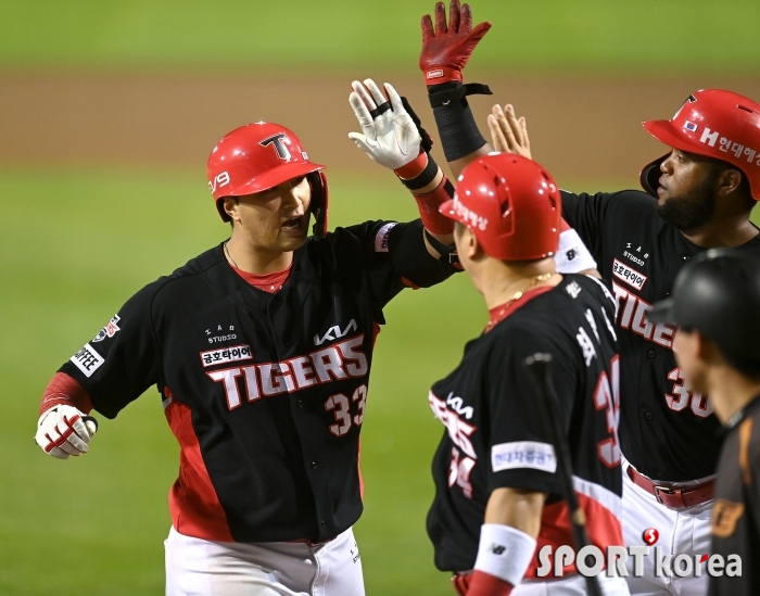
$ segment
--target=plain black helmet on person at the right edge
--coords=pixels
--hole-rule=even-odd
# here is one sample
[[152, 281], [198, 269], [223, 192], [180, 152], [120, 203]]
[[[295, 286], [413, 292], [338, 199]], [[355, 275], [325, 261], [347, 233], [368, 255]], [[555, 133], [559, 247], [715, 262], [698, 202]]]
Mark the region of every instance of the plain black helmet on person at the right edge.
[[760, 259], [710, 249], [679, 272], [672, 297], [656, 303], [650, 321], [697, 330], [733, 367], [760, 373]]

